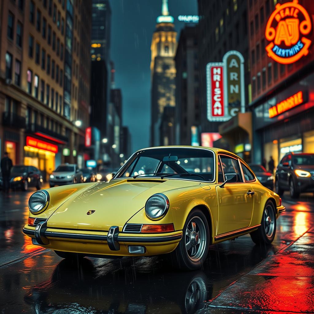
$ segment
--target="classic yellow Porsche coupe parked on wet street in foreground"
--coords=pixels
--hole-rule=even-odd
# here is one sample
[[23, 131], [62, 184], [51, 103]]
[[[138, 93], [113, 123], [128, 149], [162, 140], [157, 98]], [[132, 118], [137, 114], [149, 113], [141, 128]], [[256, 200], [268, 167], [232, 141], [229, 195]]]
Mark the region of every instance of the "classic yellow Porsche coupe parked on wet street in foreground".
[[40, 190], [29, 208], [23, 232], [60, 257], [170, 253], [181, 269], [248, 233], [270, 244], [285, 210], [235, 154], [188, 146], [141, 149], [109, 182]]

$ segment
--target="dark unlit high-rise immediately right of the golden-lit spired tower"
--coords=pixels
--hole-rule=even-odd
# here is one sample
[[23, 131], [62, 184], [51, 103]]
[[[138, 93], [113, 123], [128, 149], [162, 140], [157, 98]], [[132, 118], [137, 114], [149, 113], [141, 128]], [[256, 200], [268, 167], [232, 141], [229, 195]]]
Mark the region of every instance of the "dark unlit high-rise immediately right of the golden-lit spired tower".
[[198, 26], [181, 30], [176, 51], [176, 144], [191, 145], [191, 128], [201, 124]]

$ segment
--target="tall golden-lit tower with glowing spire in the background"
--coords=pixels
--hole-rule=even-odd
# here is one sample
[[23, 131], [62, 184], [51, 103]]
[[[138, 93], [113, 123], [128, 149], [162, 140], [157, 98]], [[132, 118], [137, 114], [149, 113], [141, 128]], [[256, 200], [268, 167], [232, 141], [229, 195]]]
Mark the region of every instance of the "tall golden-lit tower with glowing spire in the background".
[[157, 18], [151, 43], [151, 137], [152, 146], [160, 143], [160, 118], [166, 106], [176, 105], [176, 31], [169, 14], [168, 0], [162, 1], [162, 15]]

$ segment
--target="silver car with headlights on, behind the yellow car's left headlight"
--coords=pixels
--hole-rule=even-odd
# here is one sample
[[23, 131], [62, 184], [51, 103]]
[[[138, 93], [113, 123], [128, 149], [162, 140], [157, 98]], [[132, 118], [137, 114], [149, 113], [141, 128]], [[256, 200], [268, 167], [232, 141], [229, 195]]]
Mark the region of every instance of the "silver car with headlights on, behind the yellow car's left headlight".
[[52, 172], [49, 178], [50, 187], [83, 182], [83, 173], [74, 164], [62, 164]]

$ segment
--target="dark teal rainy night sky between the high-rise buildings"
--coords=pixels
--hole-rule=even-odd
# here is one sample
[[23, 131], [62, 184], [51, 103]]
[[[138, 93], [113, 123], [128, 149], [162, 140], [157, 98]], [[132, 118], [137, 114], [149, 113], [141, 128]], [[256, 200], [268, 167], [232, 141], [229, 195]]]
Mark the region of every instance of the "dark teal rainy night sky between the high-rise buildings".
[[[123, 124], [132, 135], [132, 151], [149, 146], [150, 44], [162, 0], [110, 0], [111, 60], [116, 88], [122, 89]], [[185, 23], [179, 15], [197, 15], [197, 0], [169, 0], [179, 40]]]

